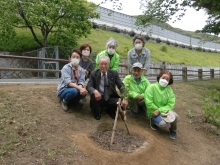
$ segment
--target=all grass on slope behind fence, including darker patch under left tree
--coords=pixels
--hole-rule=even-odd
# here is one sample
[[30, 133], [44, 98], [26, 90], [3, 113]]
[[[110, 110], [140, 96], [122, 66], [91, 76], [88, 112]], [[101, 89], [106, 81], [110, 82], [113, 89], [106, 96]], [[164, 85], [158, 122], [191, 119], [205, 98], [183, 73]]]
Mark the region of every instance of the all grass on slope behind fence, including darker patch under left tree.
[[[39, 45], [33, 40], [31, 33], [27, 30], [16, 30], [17, 36], [8, 42], [0, 40], [0, 51], [10, 52], [22, 52], [30, 51], [39, 48]], [[39, 33], [37, 34], [39, 35]], [[121, 58], [127, 57], [127, 52], [132, 45], [132, 37], [127, 35], [118, 34], [111, 31], [104, 31], [101, 29], [92, 29], [91, 34], [87, 38], [82, 37], [78, 40], [79, 47], [83, 43], [88, 43], [92, 46], [93, 52], [99, 53], [106, 47], [106, 41], [113, 37], [118, 41], [119, 47], [117, 53]], [[51, 46], [52, 42], [48, 41], [48, 46]], [[64, 44], [64, 46], [66, 46]], [[163, 48], [166, 46], [167, 50]], [[75, 47], [74, 45], [72, 47]], [[188, 50], [175, 46], [159, 44], [152, 41], [146, 43], [147, 47], [151, 51], [151, 61], [160, 62], [165, 61], [173, 64], [185, 64], [193, 66], [219, 66], [220, 65], [220, 54], [219, 53], [208, 53], [199, 52], [195, 50]]]

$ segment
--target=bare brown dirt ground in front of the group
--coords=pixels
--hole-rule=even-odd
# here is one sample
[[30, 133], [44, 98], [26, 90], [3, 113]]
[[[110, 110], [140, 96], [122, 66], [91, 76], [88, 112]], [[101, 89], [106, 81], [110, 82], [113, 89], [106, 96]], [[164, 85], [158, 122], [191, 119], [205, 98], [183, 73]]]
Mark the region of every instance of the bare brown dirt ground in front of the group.
[[0, 85], [0, 164], [219, 165], [220, 130], [205, 123], [201, 111], [202, 97], [208, 92], [204, 86], [173, 84], [180, 117], [176, 140], [167, 130], [151, 130], [148, 118], [127, 113], [132, 137], [127, 137], [119, 118], [110, 146], [114, 120], [105, 112], [95, 120], [89, 97], [83, 108], [71, 106], [64, 112], [56, 85]]

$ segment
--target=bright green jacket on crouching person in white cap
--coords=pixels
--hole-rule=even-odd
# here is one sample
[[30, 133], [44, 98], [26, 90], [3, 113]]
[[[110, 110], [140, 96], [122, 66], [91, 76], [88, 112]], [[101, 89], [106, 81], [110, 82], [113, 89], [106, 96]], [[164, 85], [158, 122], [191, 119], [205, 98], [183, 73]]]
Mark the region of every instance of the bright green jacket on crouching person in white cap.
[[133, 75], [127, 75], [123, 83], [125, 85], [125, 89], [128, 92], [128, 97], [136, 99], [137, 96], [140, 94], [144, 98], [144, 92], [148, 86], [150, 86], [150, 82], [144, 76], [141, 76], [141, 81], [137, 83], [133, 79]]

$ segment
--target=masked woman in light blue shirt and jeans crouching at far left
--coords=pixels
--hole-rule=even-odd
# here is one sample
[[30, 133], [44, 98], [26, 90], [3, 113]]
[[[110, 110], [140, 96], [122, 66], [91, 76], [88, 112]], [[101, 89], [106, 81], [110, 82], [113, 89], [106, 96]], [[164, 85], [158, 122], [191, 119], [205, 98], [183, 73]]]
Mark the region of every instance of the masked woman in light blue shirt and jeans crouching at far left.
[[70, 63], [64, 65], [61, 70], [60, 83], [57, 87], [57, 95], [61, 100], [61, 107], [64, 111], [68, 110], [68, 103], [75, 101], [79, 105], [80, 99], [88, 93], [84, 88], [85, 74], [84, 69], [79, 66], [81, 52], [73, 50], [70, 53]]

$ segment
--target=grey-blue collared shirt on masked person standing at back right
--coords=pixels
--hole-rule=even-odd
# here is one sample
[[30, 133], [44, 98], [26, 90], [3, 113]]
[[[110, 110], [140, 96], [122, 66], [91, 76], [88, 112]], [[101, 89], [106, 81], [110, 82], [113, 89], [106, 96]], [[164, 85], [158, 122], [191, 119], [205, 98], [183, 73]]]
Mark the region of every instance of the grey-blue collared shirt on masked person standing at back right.
[[132, 65], [136, 62], [140, 62], [143, 65], [143, 69], [148, 70], [150, 67], [150, 51], [147, 48], [142, 48], [140, 55], [135, 51], [135, 48], [128, 51], [128, 67], [131, 70]]

